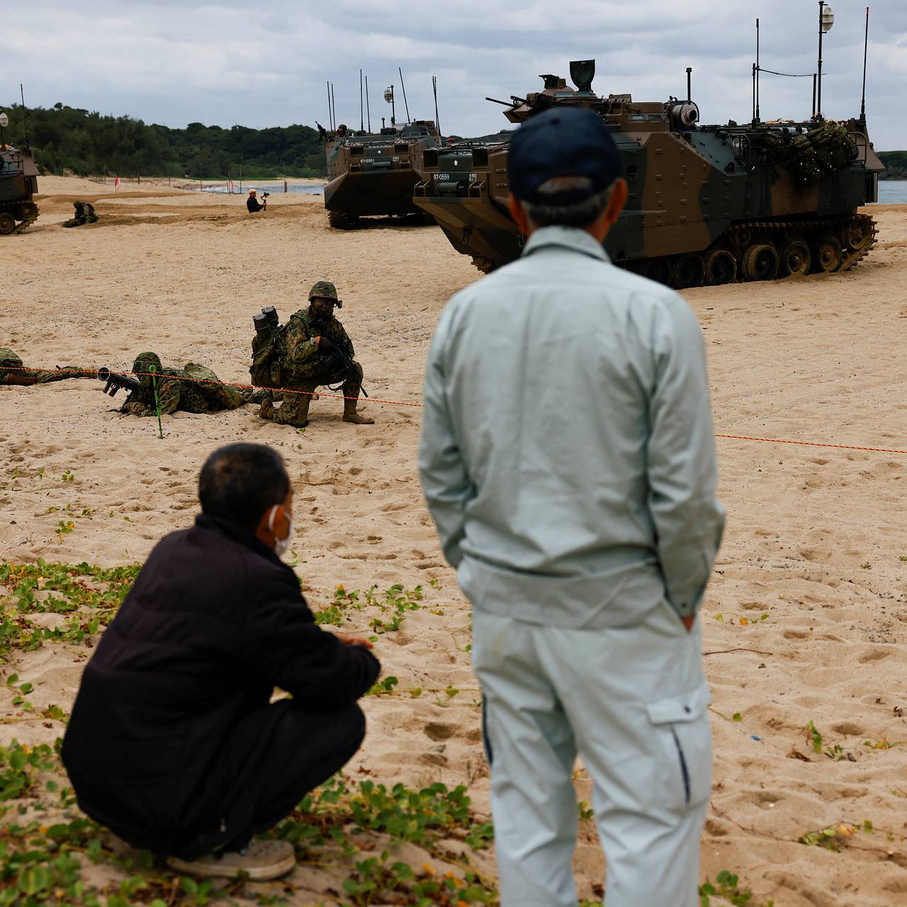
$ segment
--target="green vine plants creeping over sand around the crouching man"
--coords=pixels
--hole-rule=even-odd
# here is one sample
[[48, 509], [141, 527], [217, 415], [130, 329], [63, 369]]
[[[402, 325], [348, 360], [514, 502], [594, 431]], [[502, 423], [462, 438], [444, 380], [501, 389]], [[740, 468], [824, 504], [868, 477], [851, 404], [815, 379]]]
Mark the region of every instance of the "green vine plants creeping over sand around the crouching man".
[[[87, 563], [0, 561], [0, 664], [15, 652], [45, 644], [87, 644], [116, 614], [139, 570], [138, 564], [106, 570]], [[438, 588], [434, 580], [431, 585]], [[317, 619], [342, 625], [353, 612], [374, 609], [381, 621], [375, 630], [394, 632], [406, 615], [422, 607], [423, 599], [421, 586], [406, 590], [395, 584], [383, 592], [372, 586], [362, 593], [338, 586]], [[48, 612], [60, 615], [62, 623], [56, 628], [31, 619]], [[38, 717], [28, 700], [34, 691], [31, 683], [12, 674], [4, 684], [24, 716], [21, 720]], [[370, 692], [407, 698], [433, 693], [440, 704], [464, 692], [453, 686], [397, 687], [397, 678], [382, 678]], [[56, 706], [44, 709], [40, 717], [66, 720]], [[59, 758], [60, 746], [59, 738], [54, 746], [15, 741], [0, 746], [0, 907], [204, 907], [225, 899], [277, 907], [290, 899], [296, 902], [290, 879], [271, 884], [197, 880], [171, 873], [146, 851], [123, 853], [122, 846], [112, 847], [110, 833], [79, 811]], [[493, 825], [487, 816], [473, 812], [463, 785], [387, 787], [336, 775], [303, 798], [268, 834], [293, 844], [302, 866], [316, 865], [336, 877], [342, 900], [331, 896], [328, 902], [415, 907], [499, 903], [493, 880], [475, 863], [476, 854], [493, 843]], [[392, 854], [400, 842], [419, 846], [433, 863], [413, 866], [395, 859]], [[114, 880], [91, 881], [98, 878], [91, 864], [112, 867]], [[716, 884], [705, 883], [700, 895], [708, 898], [713, 891], [735, 904], [762, 907], [751, 900], [732, 900], [746, 898], [748, 892], [736, 889], [736, 876], [730, 873], [719, 874]]]

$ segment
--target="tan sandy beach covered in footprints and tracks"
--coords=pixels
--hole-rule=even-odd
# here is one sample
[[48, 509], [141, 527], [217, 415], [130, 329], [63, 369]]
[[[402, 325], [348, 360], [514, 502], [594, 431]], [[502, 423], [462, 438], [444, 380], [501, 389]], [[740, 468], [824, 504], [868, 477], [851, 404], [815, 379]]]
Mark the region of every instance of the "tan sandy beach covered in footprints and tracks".
[[[128, 369], [154, 350], [165, 366], [200, 362], [246, 381], [252, 315], [274, 305], [287, 317], [327, 278], [375, 424], [341, 423], [341, 401], [322, 396], [304, 431], [246, 406], [165, 416], [161, 440], [155, 420], [118, 414], [122, 395], [103, 396], [100, 382], [2, 387], [0, 560], [142, 561], [190, 524], [214, 447], [274, 445], [296, 487], [295, 569], [313, 610], [338, 586], [424, 591], [375, 644], [399, 683], [363, 701], [368, 735], [348, 775], [468, 785], [487, 813], [468, 604], [415, 469], [424, 357], [446, 299], [479, 278], [470, 260], [435, 227], [328, 229], [319, 196], [275, 193], [249, 217], [241, 196], [144, 182], [114, 194], [60, 177], [39, 186], [34, 226], [0, 238], [0, 346], [26, 365]], [[60, 229], [76, 199], [93, 201], [100, 221]], [[685, 292], [705, 331], [717, 434], [907, 450], [907, 206], [866, 210], [878, 241], [849, 272]], [[728, 437], [717, 449], [727, 532], [701, 611], [716, 752], [702, 876], [738, 874], [758, 905], [907, 903], [907, 453]], [[61, 516], [74, 524], [62, 536]], [[0, 600], [9, 592], [0, 585]], [[376, 617], [348, 608], [344, 629], [371, 633]], [[34, 685], [35, 709], [68, 713], [89, 655], [48, 643], [15, 650], [0, 670]], [[2, 684], [0, 744], [62, 734], [60, 721], [23, 716]], [[590, 786], [580, 768], [579, 800]], [[834, 838], [819, 841], [834, 849], [810, 837], [828, 829]], [[429, 859], [404, 851], [415, 865]], [[473, 863], [493, 878], [492, 851]], [[576, 870], [580, 895], [599, 896], [589, 820]], [[300, 865], [288, 903], [343, 902], [329, 893], [343, 876], [341, 863]]]

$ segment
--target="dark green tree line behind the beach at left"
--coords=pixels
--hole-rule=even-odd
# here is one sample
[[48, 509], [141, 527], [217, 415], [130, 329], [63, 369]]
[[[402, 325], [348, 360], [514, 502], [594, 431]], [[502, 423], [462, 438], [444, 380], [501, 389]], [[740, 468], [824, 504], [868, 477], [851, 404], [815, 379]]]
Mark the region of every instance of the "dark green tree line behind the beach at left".
[[[19, 104], [0, 107], [9, 117], [6, 141], [24, 145]], [[185, 129], [102, 115], [56, 103], [27, 111], [28, 143], [43, 173], [79, 176], [157, 176], [208, 180], [324, 176], [325, 150], [309, 126], [206, 126]]]

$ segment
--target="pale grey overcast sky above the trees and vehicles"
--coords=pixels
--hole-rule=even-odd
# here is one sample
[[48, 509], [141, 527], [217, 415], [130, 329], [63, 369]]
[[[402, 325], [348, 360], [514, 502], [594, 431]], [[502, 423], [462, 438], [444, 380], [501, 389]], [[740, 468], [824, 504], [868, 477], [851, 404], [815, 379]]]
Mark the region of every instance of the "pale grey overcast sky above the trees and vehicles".
[[[823, 111], [860, 112], [865, 5], [834, 0], [824, 38]], [[403, 68], [413, 118], [434, 118], [432, 76], [445, 133], [478, 135], [507, 125], [485, 95], [541, 88], [539, 73], [569, 75], [594, 57], [597, 93], [639, 101], [686, 94], [702, 122], [747, 120], [756, 16], [761, 64], [813, 73], [813, 0], [34, 0], [5, 5], [5, 88], [0, 102], [63, 102], [145, 122], [229, 127], [327, 124], [327, 80], [339, 122], [359, 125], [359, 69], [368, 75], [372, 126], [390, 107], [386, 85]], [[875, 0], [870, 13], [867, 116], [880, 150], [907, 148], [907, 0]], [[398, 122], [405, 118], [397, 89]], [[763, 75], [761, 113], [805, 118], [812, 80]]]

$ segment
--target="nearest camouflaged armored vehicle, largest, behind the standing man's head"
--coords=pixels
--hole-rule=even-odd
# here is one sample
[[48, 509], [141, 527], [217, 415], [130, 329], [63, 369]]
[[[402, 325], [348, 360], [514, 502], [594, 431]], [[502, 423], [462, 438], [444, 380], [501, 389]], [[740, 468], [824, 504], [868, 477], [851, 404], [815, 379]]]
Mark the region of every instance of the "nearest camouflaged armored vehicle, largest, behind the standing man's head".
[[[594, 72], [594, 61], [571, 63], [575, 89], [543, 75], [542, 91], [512, 95], [504, 115], [520, 123], [567, 104], [609, 124], [629, 184], [605, 240], [619, 266], [688, 288], [851, 268], [872, 247], [875, 223], [857, 209], [876, 200], [883, 165], [862, 119], [702, 126], [691, 100], [597, 95]], [[486, 272], [524, 239], [507, 209], [509, 144], [505, 133], [424, 151], [415, 187], [415, 203]]]

